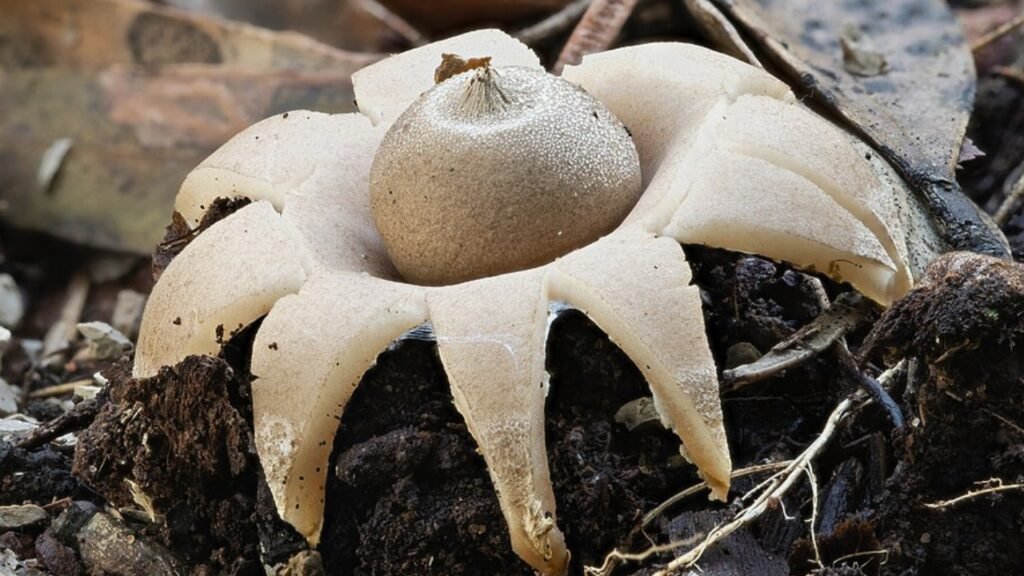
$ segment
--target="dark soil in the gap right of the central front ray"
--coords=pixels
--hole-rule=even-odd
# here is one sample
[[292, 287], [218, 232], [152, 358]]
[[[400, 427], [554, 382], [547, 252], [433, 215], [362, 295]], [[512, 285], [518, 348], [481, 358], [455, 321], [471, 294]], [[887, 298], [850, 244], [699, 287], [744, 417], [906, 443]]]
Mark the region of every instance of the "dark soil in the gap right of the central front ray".
[[586, 316], [566, 312], [548, 336], [547, 435], [558, 525], [572, 568], [600, 566], [615, 547], [645, 542], [644, 513], [697, 482], [679, 439], [659, 423], [615, 422], [624, 404], [649, 397], [633, 362]]

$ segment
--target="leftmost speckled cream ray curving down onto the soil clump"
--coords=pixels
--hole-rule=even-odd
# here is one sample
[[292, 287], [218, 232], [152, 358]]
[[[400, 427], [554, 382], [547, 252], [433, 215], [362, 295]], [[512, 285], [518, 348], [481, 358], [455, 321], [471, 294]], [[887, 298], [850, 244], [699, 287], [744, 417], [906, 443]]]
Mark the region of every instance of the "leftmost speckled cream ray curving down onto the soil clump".
[[250, 204], [200, 235], [153, 289], [133, 374], [154, 376], [186, 356], [216, 356], [223, 340], [306, 281], [298, 234], [268, 202]]

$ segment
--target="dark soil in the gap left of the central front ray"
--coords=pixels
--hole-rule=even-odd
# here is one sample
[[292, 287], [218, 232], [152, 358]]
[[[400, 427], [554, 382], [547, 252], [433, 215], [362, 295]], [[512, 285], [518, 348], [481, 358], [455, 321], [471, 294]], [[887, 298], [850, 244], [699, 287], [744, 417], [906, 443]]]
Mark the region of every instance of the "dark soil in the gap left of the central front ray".
[[401, 342], [346, 407], [319, 546], [328, 574], [530, 573], [439, 362], [433, 342]]

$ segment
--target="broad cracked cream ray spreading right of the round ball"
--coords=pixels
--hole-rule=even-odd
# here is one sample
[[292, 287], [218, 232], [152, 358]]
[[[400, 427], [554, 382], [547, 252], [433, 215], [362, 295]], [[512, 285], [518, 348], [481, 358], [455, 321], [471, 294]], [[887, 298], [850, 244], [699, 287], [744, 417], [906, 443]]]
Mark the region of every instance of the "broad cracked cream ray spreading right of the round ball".
[[[566, 77], [624, 120], [641, 164], [653, 170], [629, 222], [643, 220], [650, 232], [681, 242], [813, 266], [882, 303], [908, 289], [911, 248], [901, 244], [908, 236], [898, 214], [915, 209], [912, 195], [902, 181], [881, 177], [843, 132], [800, 107], [764, 71], [695, 46], [648, 44], [587, 56]], [[624, 77], [639, 80], [617, 81]], [[763, 162], [708, 168], [720, 168], [727, 152], [729, 160], [740, 153]], [[786, 172], [803, 182], [761, 186], [798, 182]], [[728, 201], [718, 193], [720, 177], [733, 182]], [[821, 199], [798, 201], [809, 194]], [[835, 211], [851, 217], [822, 219]]]

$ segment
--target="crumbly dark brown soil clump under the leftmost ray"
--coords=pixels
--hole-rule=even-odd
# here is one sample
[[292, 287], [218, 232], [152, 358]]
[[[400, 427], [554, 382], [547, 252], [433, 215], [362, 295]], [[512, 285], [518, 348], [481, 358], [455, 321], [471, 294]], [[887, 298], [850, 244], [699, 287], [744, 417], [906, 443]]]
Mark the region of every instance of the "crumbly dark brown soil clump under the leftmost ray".
[[147, 379], [119, 365], [110, 402], [79, 436], [75, 474], [115, 505], [147, 500], [166, 518], [154, 535], [190, 564], [259, 573], [255, 450], [233, 407], [247, 385], [214, 358], [189, 357]]

